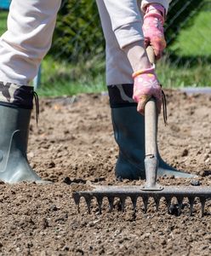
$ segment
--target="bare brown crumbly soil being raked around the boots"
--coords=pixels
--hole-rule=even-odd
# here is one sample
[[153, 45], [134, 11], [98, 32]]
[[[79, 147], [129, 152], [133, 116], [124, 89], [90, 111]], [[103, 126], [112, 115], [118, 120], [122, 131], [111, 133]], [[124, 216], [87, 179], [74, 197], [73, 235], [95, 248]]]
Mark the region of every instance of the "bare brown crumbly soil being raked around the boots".
[[[211, 185], [211, 96], [187, 96], [167, 91], [168, 126], [159, 122], [158, 143], [164, 160], [198, 174], [201, 185]], [[193, 216], [168, 214], [164, 201], [156, 212], [150, 202], [137, 212], [129, 201], [121, 212], [104, 202], [102, 214], [93, 203], [88, 214], [71, 198], [71, 183], [117, 184], [114, 166], [117, 145], [111, 129], [108, 97], [82, 95], [43, 99], [37, 127], [31, 120], [28, 159], [44, 179], [37, 185], [0, 184], [0, 255], [211, 255], [211, 202], [201, 218], [200, 204]], [[160, 183], [190, 185], [190, 180], [160, 179]], [[143, 183], [124, 181], [123, 184]]]

